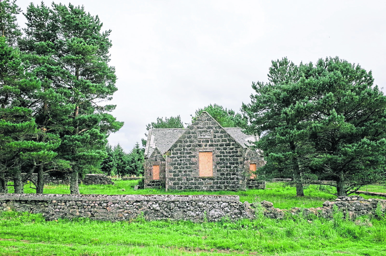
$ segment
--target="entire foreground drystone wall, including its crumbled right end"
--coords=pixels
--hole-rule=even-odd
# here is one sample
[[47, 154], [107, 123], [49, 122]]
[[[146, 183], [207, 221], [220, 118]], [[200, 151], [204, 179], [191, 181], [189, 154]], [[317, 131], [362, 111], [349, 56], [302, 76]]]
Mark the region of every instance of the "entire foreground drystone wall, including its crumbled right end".
[[[273, 203], [241, 203], [235, 195], [56, 195], [0, 194], [0, 211], [42, 213], [47, 220], [86, 217], [93, 220], [130, 220], [143, 216], [147, 220], [191, 220], [193, 222], [255, 218], [259, 210], [269, 218], [284, 218], [287, 214], [332, 217], [334, 205], [345, 218], [386, 214], [386, 200], [340, 196], [325, 201], [323, 207], [281, 210]], [[379, 205], [379, 206], [378, 206]], [[377, 207], [378, 208], [377, 210]]]

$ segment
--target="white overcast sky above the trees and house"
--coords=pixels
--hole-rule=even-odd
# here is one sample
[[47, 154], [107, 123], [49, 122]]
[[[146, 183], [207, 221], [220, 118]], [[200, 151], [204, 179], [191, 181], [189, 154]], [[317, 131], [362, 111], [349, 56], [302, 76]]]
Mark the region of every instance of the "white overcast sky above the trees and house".
[[[30, 2], [41, 0], [16, 3], [25, 11]], [[386, 82], [384, 1], [71, 3], [112, 30], [110, 65], [118, 77], [112, 114], [125, 125], [109, 142], [126, 152], [141, 145], [146, 125], [157, 117], [180, 115], [190, 123], [190, 115], [210, 103], [239, 111], [254, 92], [252, 81], [266, 82], [271, 60], [278, 58], [299, 64], [339, 56], [372, 70], [379, 87]], [[18, 22], [25, 27], [22, 15]]]

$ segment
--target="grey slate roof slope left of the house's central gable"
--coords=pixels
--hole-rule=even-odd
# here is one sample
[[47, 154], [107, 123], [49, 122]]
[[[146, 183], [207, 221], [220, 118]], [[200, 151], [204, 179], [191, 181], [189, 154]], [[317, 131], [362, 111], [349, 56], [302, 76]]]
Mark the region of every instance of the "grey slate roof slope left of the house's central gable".
[[156, 147], [164, 154], [185, 131], [184, 128], [150, 129], [147, 134], [145, 157], [150, 157]]

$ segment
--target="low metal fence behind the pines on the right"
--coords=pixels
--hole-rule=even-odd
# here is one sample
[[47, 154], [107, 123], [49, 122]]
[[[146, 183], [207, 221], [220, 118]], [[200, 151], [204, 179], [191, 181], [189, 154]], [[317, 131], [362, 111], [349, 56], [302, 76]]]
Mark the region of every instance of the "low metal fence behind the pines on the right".
[[[322, 184], [321, 184], [322, 183]], [[315, 181], [315, 183], [308, 183], [308, 184], [317, 184], [317, 185], [328, 185], [328, 184], [336, 184], [335, 181]], [[292, 182], [292, 179], [273, 179], [271, 181], [266, 181], [266, 188], [267, 189], [273, 189], [273, 188], [283, 188], [285, 186], [295, 186], [295, 184]], [[379, 195], [386, 195], [386, 184], [382, 183], [372, 183], [368, 184], [366, 186], [363, 186], [362, 188], [358, 189], [358, 193], [374, 193]]]

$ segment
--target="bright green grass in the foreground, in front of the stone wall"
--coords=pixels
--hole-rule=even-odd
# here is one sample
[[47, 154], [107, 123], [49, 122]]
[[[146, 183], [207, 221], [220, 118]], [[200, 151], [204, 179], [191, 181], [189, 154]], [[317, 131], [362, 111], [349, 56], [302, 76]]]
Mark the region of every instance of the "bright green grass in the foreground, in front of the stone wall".
[[223, 220], [216, 223], [46, 222], [41, 215], [0, 215], [1, 255], [386, 255], [386, 221]]

